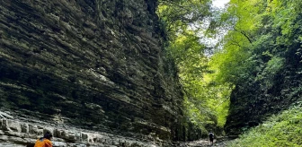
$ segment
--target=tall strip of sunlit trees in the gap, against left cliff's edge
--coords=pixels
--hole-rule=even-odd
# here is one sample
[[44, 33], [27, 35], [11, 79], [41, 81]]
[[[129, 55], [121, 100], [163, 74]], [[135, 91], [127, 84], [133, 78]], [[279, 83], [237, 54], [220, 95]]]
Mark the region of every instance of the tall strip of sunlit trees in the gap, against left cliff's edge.
[[159, 2], [157, 13], [168, 39], [166, 56], [177, 65], [185, 93], [185, 121], [199, 128], [201, 134], [214, 128], [222, 132], [232, 87], [212, 82], [207, 55], [211, 48], [200, 42], [200, 32], [206, 31], [205, 20], [213, 13], [211, 1]]

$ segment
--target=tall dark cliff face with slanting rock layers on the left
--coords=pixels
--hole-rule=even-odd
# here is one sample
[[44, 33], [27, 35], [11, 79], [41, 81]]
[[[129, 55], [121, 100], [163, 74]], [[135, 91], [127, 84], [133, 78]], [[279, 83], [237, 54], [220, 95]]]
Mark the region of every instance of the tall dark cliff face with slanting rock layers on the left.
[[[94, 131], [182, 135], [155, 0], [0, 1], [0, 107]], [[182, 127], [179, 127], [182, 128]]]

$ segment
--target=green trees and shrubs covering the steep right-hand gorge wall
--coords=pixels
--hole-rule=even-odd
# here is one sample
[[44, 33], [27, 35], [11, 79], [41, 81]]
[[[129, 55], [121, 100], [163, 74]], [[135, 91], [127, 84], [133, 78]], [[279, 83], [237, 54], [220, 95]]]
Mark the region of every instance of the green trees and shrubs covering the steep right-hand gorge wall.
[[211, 23], [227, 29], [209, 66], [215, 82], [235, 85], [230, 127], [261, 122], [299, 99], [301, 8], [300, 0], [231, 0], [227, 11]]

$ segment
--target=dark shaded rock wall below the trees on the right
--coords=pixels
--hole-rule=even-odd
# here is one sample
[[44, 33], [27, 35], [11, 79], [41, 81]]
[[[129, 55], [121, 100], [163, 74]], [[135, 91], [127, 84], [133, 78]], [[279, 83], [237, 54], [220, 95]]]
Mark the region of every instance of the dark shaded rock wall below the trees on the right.
[[225, 125], [227, 134], [243, 134], [246, 129], [260, 125], [271, 115], [278, 114], [301, 100], [302, 75], [297, 73], [302, 68], [298, 66], [300, 60], [295, 59], [294, 54], [287, 59], [284, 68], [273, 75], [272, 80], [265, 77], [266, 81], [271, 80], [271, 85], [267, 86], [266, 81], [246, 81], [236, 85], [231, 94]]

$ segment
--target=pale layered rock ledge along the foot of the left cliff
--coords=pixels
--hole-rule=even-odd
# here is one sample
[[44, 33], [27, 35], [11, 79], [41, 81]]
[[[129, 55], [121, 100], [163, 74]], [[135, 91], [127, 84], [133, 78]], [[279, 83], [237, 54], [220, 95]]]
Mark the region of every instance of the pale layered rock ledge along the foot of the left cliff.
[[[153, 135], [129, 138], [117, 134], [106, 134], [70, 126], [59, 127], [37, 120], [13, 120], [11, 115], [0, 112], [0, 146], [24, 146], [35, 143], [46, 132], [54, 135], [55, 147], [67, 146], [171, 146]], [[25, 122], [26, 121], [26, 122]]]

